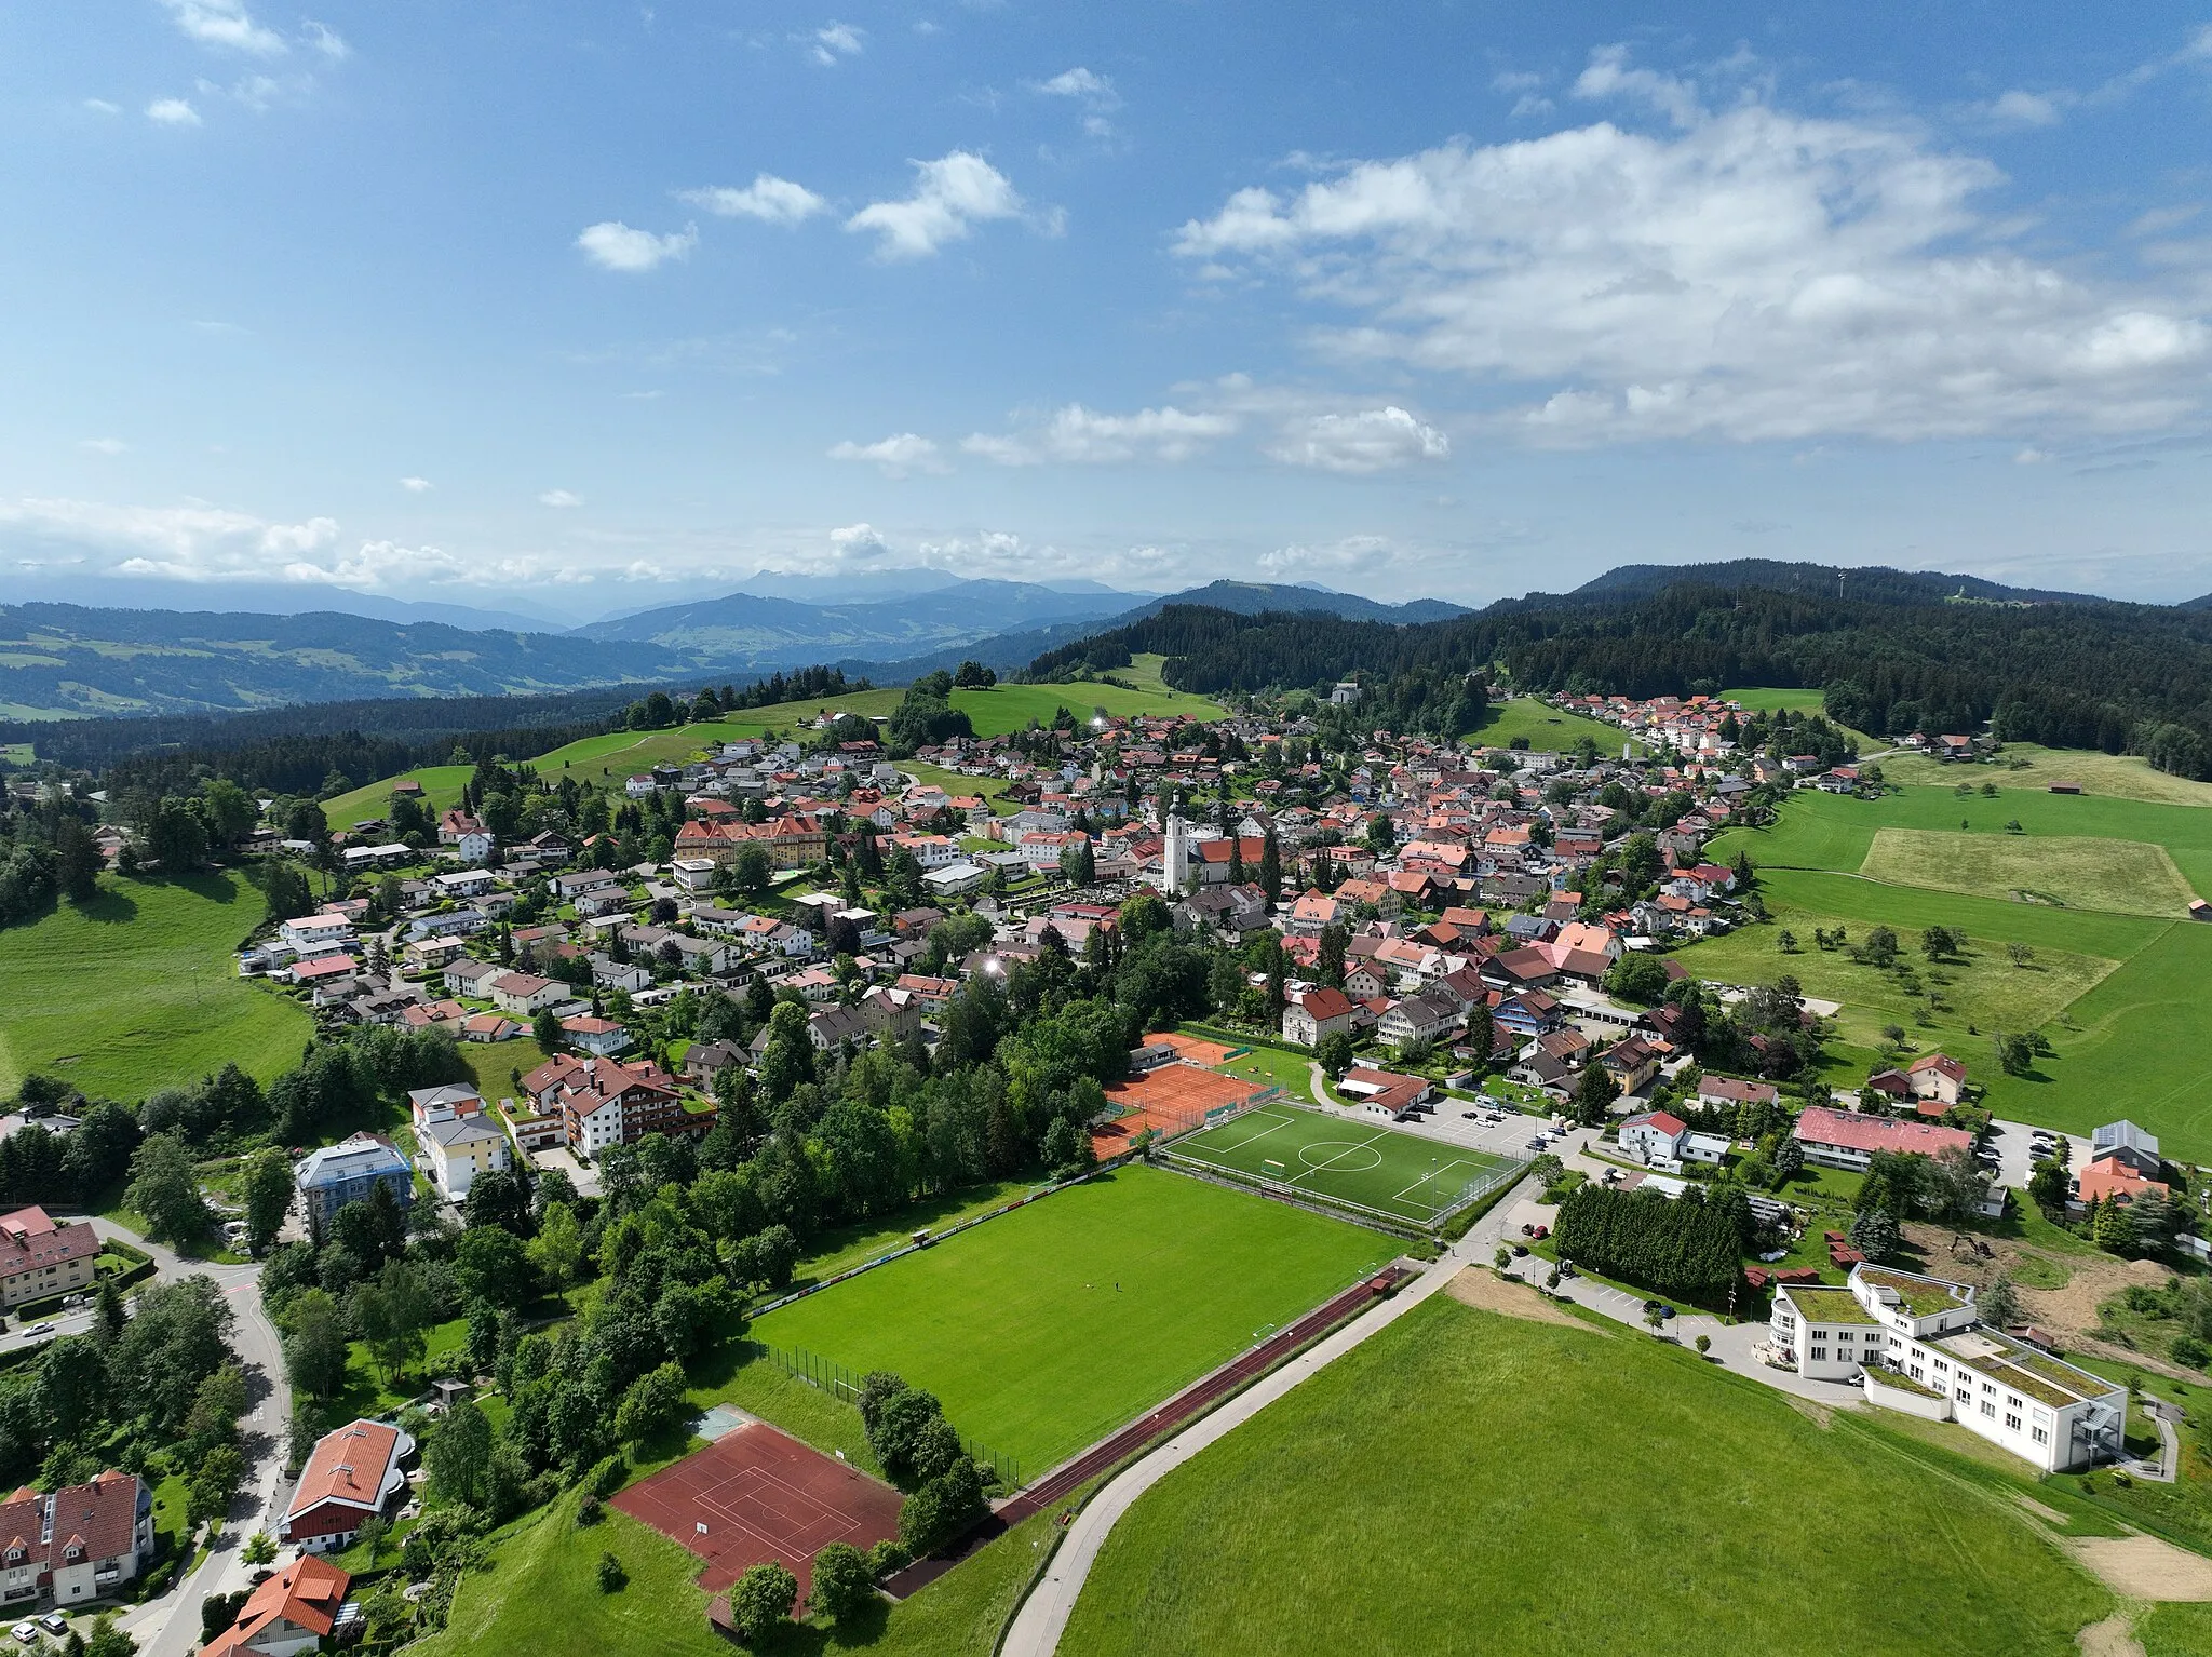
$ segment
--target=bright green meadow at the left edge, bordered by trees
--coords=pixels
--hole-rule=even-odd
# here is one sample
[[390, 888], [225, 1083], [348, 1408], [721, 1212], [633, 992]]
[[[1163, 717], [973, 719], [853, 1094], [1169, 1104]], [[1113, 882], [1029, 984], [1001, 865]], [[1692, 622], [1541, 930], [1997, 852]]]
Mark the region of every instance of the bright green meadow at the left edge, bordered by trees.
[[261, 1082], [299, 1064], [312, 1018], [232, 960], [261, 916], [261, 892], [228, 869], [108, 876], [91, 903], [0, 931], [0, 1095], [51, 1071], [137, 1104], [228, 1060]]

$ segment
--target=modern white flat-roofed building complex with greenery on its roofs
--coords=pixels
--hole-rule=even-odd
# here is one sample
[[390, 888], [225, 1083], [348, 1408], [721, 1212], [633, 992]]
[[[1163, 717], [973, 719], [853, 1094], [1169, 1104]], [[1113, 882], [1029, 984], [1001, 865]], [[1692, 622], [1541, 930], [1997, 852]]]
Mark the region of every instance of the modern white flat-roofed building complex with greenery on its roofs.
[[1849, 1288], [1778, 1288], [1770, 1330], [1798, 1374], [1955, 1420], [2046, 1473], [2121, 1451], [2126, 1389], [1984, 1325], [1962, 1283], [1854, 1265]]

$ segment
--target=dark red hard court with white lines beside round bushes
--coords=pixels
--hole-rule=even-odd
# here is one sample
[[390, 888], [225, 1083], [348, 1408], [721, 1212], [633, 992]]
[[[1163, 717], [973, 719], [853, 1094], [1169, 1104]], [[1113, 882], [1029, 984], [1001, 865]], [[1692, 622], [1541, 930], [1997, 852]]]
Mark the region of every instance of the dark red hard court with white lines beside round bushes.
[[708, 1593], [779, 1560], [803, 1595], [814, 1555], [830, 1542], [869, 1549], [898, 1535], [900, 1496], [765, 1422], [748, 1422], [613, 1502], [706, 1560], [699, 1586]]

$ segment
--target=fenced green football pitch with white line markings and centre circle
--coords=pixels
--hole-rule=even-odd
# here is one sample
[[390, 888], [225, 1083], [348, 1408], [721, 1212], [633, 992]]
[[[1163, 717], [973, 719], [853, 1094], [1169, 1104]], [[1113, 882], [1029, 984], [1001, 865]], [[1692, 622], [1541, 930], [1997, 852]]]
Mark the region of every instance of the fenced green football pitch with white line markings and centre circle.
[[1279, 1104], [1177, 1139], [1170, 1155], [1413, 1226], [1438, 1223], [1515, 1166], [1484, 1150]]

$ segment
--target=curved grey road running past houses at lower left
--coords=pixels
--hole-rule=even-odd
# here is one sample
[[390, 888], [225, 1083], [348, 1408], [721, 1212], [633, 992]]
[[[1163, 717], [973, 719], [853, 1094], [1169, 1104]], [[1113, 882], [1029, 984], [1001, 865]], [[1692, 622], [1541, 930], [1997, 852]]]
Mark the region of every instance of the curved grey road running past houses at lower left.
[[[252, 1400], [246, 1420], [239, 1422], [239, 1449], [246, 1453], [246, 1482], [230, 1504], [223, 1533], [208, 1557], [199, 1562], [181, 1582], [170, 1584], [159, 1597], [128, 1611], [119, 1626], [137, 1639], [142, 1657], [190, 1657], [199, 1648], [199, 1602], [210, 1593], [230, 1593], [252, 1586], [252, 1566], [239, 1557], [239, 1542], [254, 1531], [272, 1529], [274, 1504], [283, 1480], [285, 1438], [292, 1427], [292, 1385], [283, 1374], [283, 1345], [276, 1325], [261, 1310], [259, 1265], [210, 1265], [190, 1261], [170, 1248], [148, 1243], [137, 1232], [115, 1221], [91, 1217], [93, 1230], [102, 1237], [117, 1237], [153, 1257], [161, 1279], [206, 1276], [223, 1292], [234, 1323], [230, 1345], [239, 1354], [246, 1372], [246, 1394]], [[88, 1319], [86, 1319], [88, 1323]], [[64, 1332], [71, 1332], [66, 1323]]]

